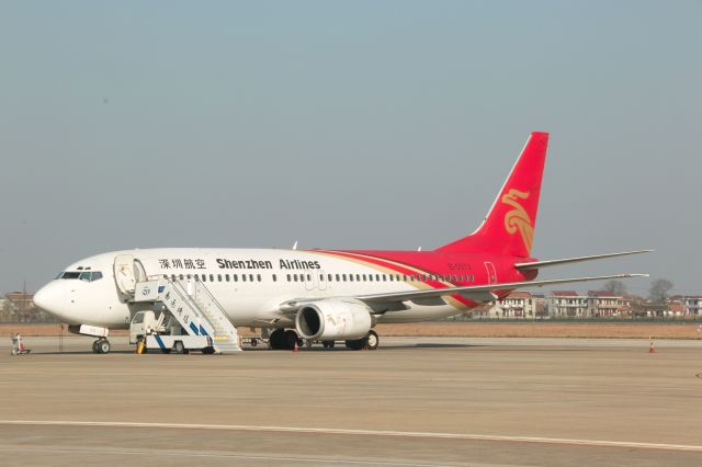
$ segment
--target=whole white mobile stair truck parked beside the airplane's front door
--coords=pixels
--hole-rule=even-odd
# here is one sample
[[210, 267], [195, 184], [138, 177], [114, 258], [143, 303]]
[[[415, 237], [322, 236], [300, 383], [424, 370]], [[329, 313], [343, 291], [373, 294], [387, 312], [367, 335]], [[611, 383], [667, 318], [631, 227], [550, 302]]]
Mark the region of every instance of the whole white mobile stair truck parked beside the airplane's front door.
[[[236, 328], [200, 281], [181, 283], [160, 277], [137, 282], [133, 301], [152, 304], [155, 309], [160, 309], [160, 315], [157, 317], [155, 311], [136, 314], [129, 327], [132, 343], [140, 335], [145, 338], [147, 349], [156, 345], [154, 349], [176, 351], [203, 349], [205, 353], [241, 351]], [[203, 345], [205, 342], [210, 344]]]

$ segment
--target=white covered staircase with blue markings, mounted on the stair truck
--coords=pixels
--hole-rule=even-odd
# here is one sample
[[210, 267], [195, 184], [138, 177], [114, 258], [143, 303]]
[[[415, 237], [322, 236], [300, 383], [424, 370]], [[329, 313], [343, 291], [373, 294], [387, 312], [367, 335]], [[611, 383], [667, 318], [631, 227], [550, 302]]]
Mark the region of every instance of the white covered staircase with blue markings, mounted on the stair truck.
[[[184, 285], [183, 285], [184, 284]], [[210, 335], [215, 353], [240, 352], [239, 334], [205, 284], [170, 277], [137, 282], [136, 303], [160, 303], [190, 335]]]

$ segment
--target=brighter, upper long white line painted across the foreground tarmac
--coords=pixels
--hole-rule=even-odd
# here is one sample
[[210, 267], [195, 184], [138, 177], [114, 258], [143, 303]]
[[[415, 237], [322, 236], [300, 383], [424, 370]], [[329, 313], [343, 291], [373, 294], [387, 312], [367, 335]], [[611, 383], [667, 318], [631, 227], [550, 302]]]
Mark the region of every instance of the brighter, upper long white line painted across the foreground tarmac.
[[178, 430], [228, 430], [270, 433], [315, 433], [353, 436], [423, 437], [434, 440], [498, 441], [510, 443], [559, 444], [597, 447], [632, 447], [639, 449], [664, 449], [702, 452], [702, 445], [642, 443], [635, 441], [575, 440], [567, 437], [506, 436], [492, 434], [440, 433], [393, 430], [355, 430], [332, 428], [273, 426], [273, 425], [223, 425], [199, 423], [147, 423], [147, 422], [90, 422], [71, 420], [0, 420], [0, 425], [44, 425], [44, 426], [104, 426], [104, 428], [145, 428]]

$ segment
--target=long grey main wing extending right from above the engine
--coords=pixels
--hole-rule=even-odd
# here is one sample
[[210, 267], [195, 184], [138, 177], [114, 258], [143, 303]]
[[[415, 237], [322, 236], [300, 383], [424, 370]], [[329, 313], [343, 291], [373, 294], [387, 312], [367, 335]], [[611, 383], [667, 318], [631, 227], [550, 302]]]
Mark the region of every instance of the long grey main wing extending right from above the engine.
[[[487, 285], [469, 285], [465, 287], [446, 287], [446, 288], [433, 288], [429, 291], [409, 291], [409, 292], [390, 292], [387, 294], [374, 294], [374, 295], [359, 295], [354, 298], [369, 304], [383, 304], [383, 303], [397, 303], [397, 301], [424, 301], [431, 298], [439, 298], [448, 295], [461, 295], [469, 300], [474, 301], [491, 301], [497, 296], [494, 291], [510, 291], [516, 288], [529, 288], [529, 287], [543, 287], [544, 285], [559, 285], [571, 284], [576, 282], [590, 282], [590, 281], [604, 281], [610, 278], [629, 278], [629, 277], [648, 277], [648, 274], [615, 274], [615, 275], [601, 275], [592, 277], [576, 277], [576, 278], [555, 278], [546, 281], [525, 281], [525, 282], [510, 282], [503, 284], [487, 284]], [[429, 304], [427, 301], [427, 304]]]

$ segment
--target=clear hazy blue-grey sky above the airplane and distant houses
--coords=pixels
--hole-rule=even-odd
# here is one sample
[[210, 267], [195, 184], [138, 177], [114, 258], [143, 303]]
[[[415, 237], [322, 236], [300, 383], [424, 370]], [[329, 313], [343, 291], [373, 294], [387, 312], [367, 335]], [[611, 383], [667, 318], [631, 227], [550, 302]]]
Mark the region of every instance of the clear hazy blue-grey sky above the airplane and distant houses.
[[0, 1], [0, 292], [136, 247], [437, 248], [547, 130], [532, 253], [656, 252], [541, 277], [702, 294], [701, 18], [684, 0]]

